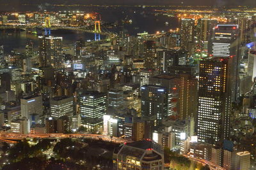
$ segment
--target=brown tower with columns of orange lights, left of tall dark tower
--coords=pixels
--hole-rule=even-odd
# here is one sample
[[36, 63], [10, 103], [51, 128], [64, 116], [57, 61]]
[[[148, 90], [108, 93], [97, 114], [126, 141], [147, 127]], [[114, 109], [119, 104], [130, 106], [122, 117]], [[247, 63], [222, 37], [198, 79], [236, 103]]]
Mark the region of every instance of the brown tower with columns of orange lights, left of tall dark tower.
[[180, 74], [179, 101], [177, 110], [179, 118], [195, 117], [197, 110], [197, 80], [189, 74]]

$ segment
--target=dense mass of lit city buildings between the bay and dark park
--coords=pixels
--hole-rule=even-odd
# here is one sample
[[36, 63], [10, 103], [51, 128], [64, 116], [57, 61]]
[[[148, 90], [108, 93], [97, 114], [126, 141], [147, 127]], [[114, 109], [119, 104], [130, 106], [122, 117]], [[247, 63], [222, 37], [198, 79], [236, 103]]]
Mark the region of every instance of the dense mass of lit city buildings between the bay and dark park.
[[244, 145], [256, 118], [255, 22], [180, 18], [176, 31], [121, 31], [110, 41], [79, 39], [72, 50], [49, 31], [36, 52], [31, 42], [24, 54], [0, 46], [1, 126], [136, 141], [115, 150], [116, 169], [163, 169], [164, 147], [225, 169], [255, 168], [253, 143]]

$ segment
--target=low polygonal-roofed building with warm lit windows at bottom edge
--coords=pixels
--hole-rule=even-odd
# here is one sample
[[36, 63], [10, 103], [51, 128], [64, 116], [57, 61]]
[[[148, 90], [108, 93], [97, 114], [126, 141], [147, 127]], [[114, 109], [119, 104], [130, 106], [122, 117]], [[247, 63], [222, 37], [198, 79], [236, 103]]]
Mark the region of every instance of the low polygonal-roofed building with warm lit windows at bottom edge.
[[164, 169], [162, 146], [151, 140], [124, 143], [115, 148], [113, 169]]

